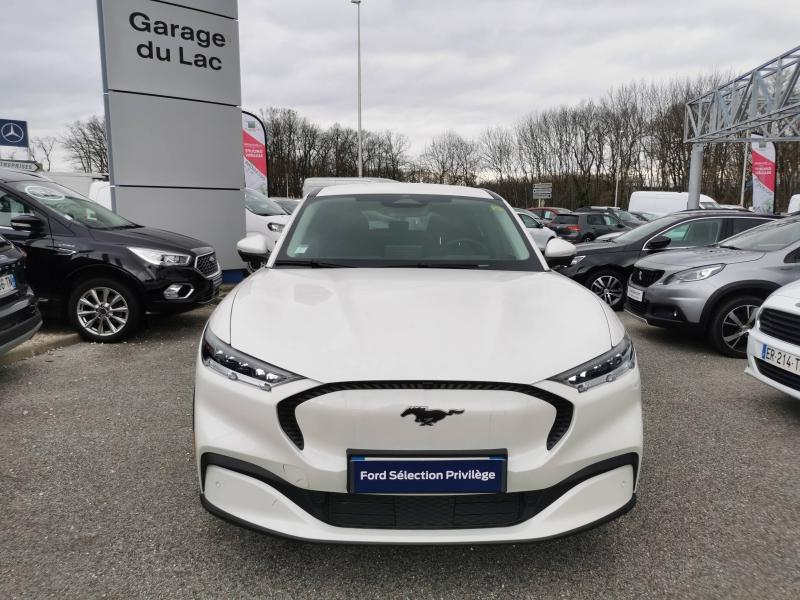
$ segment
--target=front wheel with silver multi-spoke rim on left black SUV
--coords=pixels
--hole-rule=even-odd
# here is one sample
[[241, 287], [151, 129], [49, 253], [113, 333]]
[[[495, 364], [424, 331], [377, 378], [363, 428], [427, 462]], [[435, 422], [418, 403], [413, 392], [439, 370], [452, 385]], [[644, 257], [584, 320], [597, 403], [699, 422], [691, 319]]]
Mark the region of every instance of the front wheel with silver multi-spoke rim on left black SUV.
[[78, 283], [67, 301], [69, 320], [90, 342], [114, 343], [138, 331], [142, 305], [136, 293], [116, 279], [97, 277]]

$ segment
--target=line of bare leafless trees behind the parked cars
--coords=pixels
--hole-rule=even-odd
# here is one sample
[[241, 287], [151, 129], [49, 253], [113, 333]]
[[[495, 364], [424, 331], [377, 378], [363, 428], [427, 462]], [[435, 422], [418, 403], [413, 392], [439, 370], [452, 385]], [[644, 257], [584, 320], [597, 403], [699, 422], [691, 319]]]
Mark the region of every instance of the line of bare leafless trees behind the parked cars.
[[[414, 156], [403, 133], [366, 130], [364, 175], [480, 185], [516, 206], [534, 205], [531, 190], [540, 182], [553, 184], [547, 204], [567, 208], [613, 204], [617, 181], [621, 206], [634, 190], [685, 191], [691, 151], [683, 142], [685, 104], [723, 79], [712, 73], [622, 85], [599, 99], [532, 111], [511, 126], [489, 125], [474, 139], [444, 131]], [[355, 129], [338, 123], [322, 127], [290, 108], [259, 112], [267, 130], [270, 195], [299, 197], [307, 177], [357, 175]], [[107, 170], [102, 118], [69, 125], [59, 141], [77, 168]], [[776, 206], [785, 209], [788, 198], [800, 193], [800, 144], [777, 147]], [[722, 203], [738, 203], [744, 167], [749, 201], [746, 150], [742, 143], [707, 145], [703, 192]]]

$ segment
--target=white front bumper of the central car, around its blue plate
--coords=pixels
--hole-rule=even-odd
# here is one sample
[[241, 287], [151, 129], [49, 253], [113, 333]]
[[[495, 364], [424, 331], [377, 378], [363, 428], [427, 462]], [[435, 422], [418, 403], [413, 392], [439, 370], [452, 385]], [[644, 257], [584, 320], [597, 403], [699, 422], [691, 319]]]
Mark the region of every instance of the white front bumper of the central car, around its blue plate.
[[[392, 419], [386, 422], [381, 421], [380, 414], [370, 414], [364, 408], [359, 391], [342, 392], [349, 395], [339, 397], [334, 393], [321, 396], [310, 412], [307, 405], [314, 401], [309, 401], [297, 409], [305, 435], [305, 443], [298, 446], [279, 421], [278, 404], [320, 386], [304, 380], [265, 392], [231, 381], [198, 360], [195, 451], [203, 502], [211, 512], [302, 539], [442, 544], [546, 539], [611, 518], [632, 506], [642, 450], [638, 370], [582, 394], [550, 381], [536, 384], [537, 389], [558, 395], [573, 407], [565, 433], [550, 449], [548, 431], [555, 423], [556, 410], [536, 398], [518, 398], [511, 392], [472, 392], [485, 404], [498, 406], [493, 421], [487, 417], [483, 423], [485, 431], [475, 428], [475, 422], [468, 421], [467, 416], [444, 421], [433, 429], [414, 427], [399, 418], [397, 404], [414, 403], [410, 398], [417, 397], [407, 396], [409, 392], [402, 389], [370, 396], [376, 407], [387, 402], [392, 406]], [[473, 397], [467, 392], [444, 392], [451, 394], [445, 402], [452, 404], [458, 398], [458, 406], [468, 408], [466, 415], [477, 412], [477, 408], [470, 410], [474, 405], [468, 398]], [[426, 402], [441, 401], [437, 390], [425, 393]], [[503, 416], [500, 406], [512, 414]], [[518, 414], [515, 411], [522, 410], [520, 407], [529, 412]], [[318, 411], [318, 419], [314, 411]], [[489, 432], [497, 429], [497, 423], [524, 418], [530, 419], [529, 431], [522, 423]], [[355, 422], [348, 425], [348, 419], [359, 419], [358, 426]], [[394, 430], [397, 424], [405, 429]], [[432, 431], [436, 435], [423, 444], [419, 436]], [[545, 506], [537, 505], [541, 510], [525, 513], [529, 518], [519, 522], [512, 519], [512, 524], [501, 527], [381, 529], [333, 525], [335, 520], [315, 512], [314, 505], [304, 500], [318, 498], [324, 503], [327, 495], [347, 495], [348, 448], [376, 453], [414, 448], [424, 453], [489, 447], [508, 450], [507, 493], [500, 496], [511, 500], [519, 494], [531, 501], [547, 496]], [[605, 461], [620, 460], [598, 471], [598, 463], [608, 465]]]

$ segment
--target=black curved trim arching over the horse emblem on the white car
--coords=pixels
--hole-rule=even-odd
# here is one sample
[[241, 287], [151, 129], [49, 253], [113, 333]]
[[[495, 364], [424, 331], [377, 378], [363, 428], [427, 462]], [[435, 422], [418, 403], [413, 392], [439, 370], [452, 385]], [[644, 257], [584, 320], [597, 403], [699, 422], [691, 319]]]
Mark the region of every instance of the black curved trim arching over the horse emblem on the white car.
[[297, 407], [313, 398], [346, 390], [491, 390], [525, 394], [547, 402], [556, 409], [556, 418], [547, 436], [548, 450], [558, 443], [572, 423], [571, 402], [531, 385], [480, 381], [356, 381], [321, 385], [281, 400], [278, 403], [278, 422], [281, 429], [294, 445], [302, 450], [305, 440], [295, 415]]

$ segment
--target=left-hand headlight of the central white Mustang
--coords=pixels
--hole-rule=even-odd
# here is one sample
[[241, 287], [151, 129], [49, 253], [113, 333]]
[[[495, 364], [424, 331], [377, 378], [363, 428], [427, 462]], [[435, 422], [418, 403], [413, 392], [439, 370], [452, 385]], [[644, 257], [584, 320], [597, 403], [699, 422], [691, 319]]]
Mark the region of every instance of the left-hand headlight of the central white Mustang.
[[206, 327], [200, 348], [203, 364], [233, 381], [241, 381], [262, 390], [270, 391], [276, 385], [302, 379], [275, 365], [239, 352], [215, 336]]

